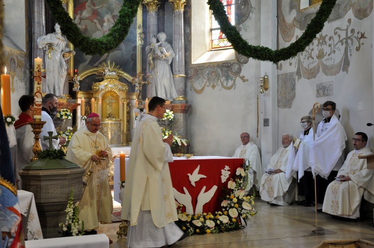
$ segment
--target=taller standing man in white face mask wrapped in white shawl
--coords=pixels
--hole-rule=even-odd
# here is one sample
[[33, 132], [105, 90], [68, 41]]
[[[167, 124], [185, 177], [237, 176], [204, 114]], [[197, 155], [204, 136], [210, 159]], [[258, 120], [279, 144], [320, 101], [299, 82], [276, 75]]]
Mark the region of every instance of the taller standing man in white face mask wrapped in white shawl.
[[325, 118], [318, 124], [316, 139], [309, 156], [309, 165], [316, 174], [317, 203], [323, 203], [327, 186], [335, 180], [344, 163], [347, 134], [334, 116], [335, 109], [336, 103], [332, 101], [323, 104], [322, 114]]

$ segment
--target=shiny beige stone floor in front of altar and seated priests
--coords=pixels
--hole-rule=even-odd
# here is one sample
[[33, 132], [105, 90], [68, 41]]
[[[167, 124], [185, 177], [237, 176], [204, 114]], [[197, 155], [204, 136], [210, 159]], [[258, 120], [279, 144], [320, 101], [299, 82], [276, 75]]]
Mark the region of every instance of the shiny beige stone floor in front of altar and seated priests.
[[[315, 214], [314, 207], [293, 204], [270, 206], [258, 197], [258, 213], [241, 231], [191, 236], [173, 247], [184, 248], [312, 248], [322, 241], [374, 238], [372, 217], [358, 222], [334, 220], [325, 213]], [[98, 233], [113, 240], [111, 248], [126, 248], [126, 238], [117, 238], [120, 223], [100, 225]]]

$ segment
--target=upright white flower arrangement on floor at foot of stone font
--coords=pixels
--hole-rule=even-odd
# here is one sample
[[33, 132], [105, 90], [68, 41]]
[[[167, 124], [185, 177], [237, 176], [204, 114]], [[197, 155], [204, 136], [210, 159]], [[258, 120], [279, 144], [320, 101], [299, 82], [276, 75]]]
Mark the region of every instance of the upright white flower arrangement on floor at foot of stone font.
[[[61, 234], [61, 237], [82, 236], [84, 234], [84, 222], [79, 220], [78, 207], [73, 205], [73, 189], [70, 190], [65, 213], [65, 224], [58, 224], [58, 226], [62, 228], [62, 232], [58, 233]], [[82, 225], [82, 231], [78, 231], [80, 225]]]

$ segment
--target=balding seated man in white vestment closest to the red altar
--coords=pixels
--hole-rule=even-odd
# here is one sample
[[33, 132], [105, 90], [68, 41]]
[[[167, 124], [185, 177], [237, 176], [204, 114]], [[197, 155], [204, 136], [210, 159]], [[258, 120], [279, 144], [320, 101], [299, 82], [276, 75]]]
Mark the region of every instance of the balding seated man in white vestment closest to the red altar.
[[260, 181], [262, 177], [262, 166], [260, 152], [258, 151], [257, 145], [250, 141], [249, 133], [243, 132], [240, 134], [240, 140], [242, 145], [240, 145], [235, 150], [235, 154], [232, 157], [244, 158], [249, 161], [249, 171], [248, 171], [248, 188], [254, 185], [256, 191], [260, 190]]

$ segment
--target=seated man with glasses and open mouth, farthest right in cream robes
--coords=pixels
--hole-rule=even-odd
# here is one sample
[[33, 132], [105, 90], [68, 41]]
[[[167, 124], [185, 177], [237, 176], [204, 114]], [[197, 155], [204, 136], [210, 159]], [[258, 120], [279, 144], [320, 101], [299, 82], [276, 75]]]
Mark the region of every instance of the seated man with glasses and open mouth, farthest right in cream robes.
[[374, 184], [371, 182], [374, 171], [367, 168], [367, 160], [359, 159], [359, 155], [373, 152], [365, 147], [368, 136], [364, 132], [357, 132], [352, 140], [355, 150], [348, 154], [337, 179], [327, 187], [322, 211], [333, 216], [357, 219], [360, 217], [364, 192], [367, 191], [364, 198], [370, 201], [374, 199]]

